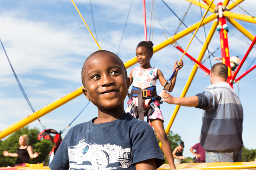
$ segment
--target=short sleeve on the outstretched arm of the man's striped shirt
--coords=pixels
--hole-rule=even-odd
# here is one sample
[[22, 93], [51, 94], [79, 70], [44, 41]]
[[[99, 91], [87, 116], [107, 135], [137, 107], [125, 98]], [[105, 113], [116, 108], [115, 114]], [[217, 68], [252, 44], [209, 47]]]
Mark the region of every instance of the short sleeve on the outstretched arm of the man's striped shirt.
[[204, 91], [203, 93], [196, 94], [196, 96], [198, 97], [196, 108], [211, 111], [218, 105], [218, 100], [213, 90]]

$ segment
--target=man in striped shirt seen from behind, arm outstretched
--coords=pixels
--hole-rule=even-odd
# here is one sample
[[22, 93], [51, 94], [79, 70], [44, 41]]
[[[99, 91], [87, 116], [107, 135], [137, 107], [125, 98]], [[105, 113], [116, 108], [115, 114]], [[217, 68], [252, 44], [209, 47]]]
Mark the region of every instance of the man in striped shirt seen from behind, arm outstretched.
[[[211, 85], [192, 97], [172, 97], [166, 91], [162, 101], [203, 109], [201, 145], [207, 162], [241, 162], [243, 108], [238, 95], [226, 80], [228, 67], [222, 63], [212, 66]], [[164, 99], [163, 99], [164, 98]]]

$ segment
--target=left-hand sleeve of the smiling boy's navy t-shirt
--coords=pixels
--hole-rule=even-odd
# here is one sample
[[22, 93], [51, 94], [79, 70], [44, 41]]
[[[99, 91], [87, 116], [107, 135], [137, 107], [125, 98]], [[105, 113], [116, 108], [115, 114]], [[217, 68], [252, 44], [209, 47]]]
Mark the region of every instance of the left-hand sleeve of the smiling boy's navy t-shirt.
[[57, 152], [55, 153], [53, 160], [49, 164], [51, 170], [68, 170], [69, 161], [68, 161], [68, 148], [67, 148], [67, 139], [68, 134], [64, 137], [63, 141], [60, 144]]

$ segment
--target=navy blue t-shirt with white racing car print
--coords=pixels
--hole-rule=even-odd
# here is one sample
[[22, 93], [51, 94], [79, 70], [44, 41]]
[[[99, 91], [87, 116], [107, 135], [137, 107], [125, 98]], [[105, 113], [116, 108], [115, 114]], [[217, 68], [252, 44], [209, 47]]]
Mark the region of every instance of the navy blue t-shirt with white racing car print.
[[164, 162], [151, 126], [131, 114], [111, 122], [75, 125], [65, 135], [49, 167], [51, 170], [135, 170], [135, 163], [155, 158]]

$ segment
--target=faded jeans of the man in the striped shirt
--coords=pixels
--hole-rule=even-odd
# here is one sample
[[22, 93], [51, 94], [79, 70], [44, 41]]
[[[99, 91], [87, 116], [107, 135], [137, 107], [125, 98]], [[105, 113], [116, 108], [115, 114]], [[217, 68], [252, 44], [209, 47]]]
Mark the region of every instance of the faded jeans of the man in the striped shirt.
[[236, 149], [233, 152], [205, 151], [205, 162], [241, 162], [242, 150]]

